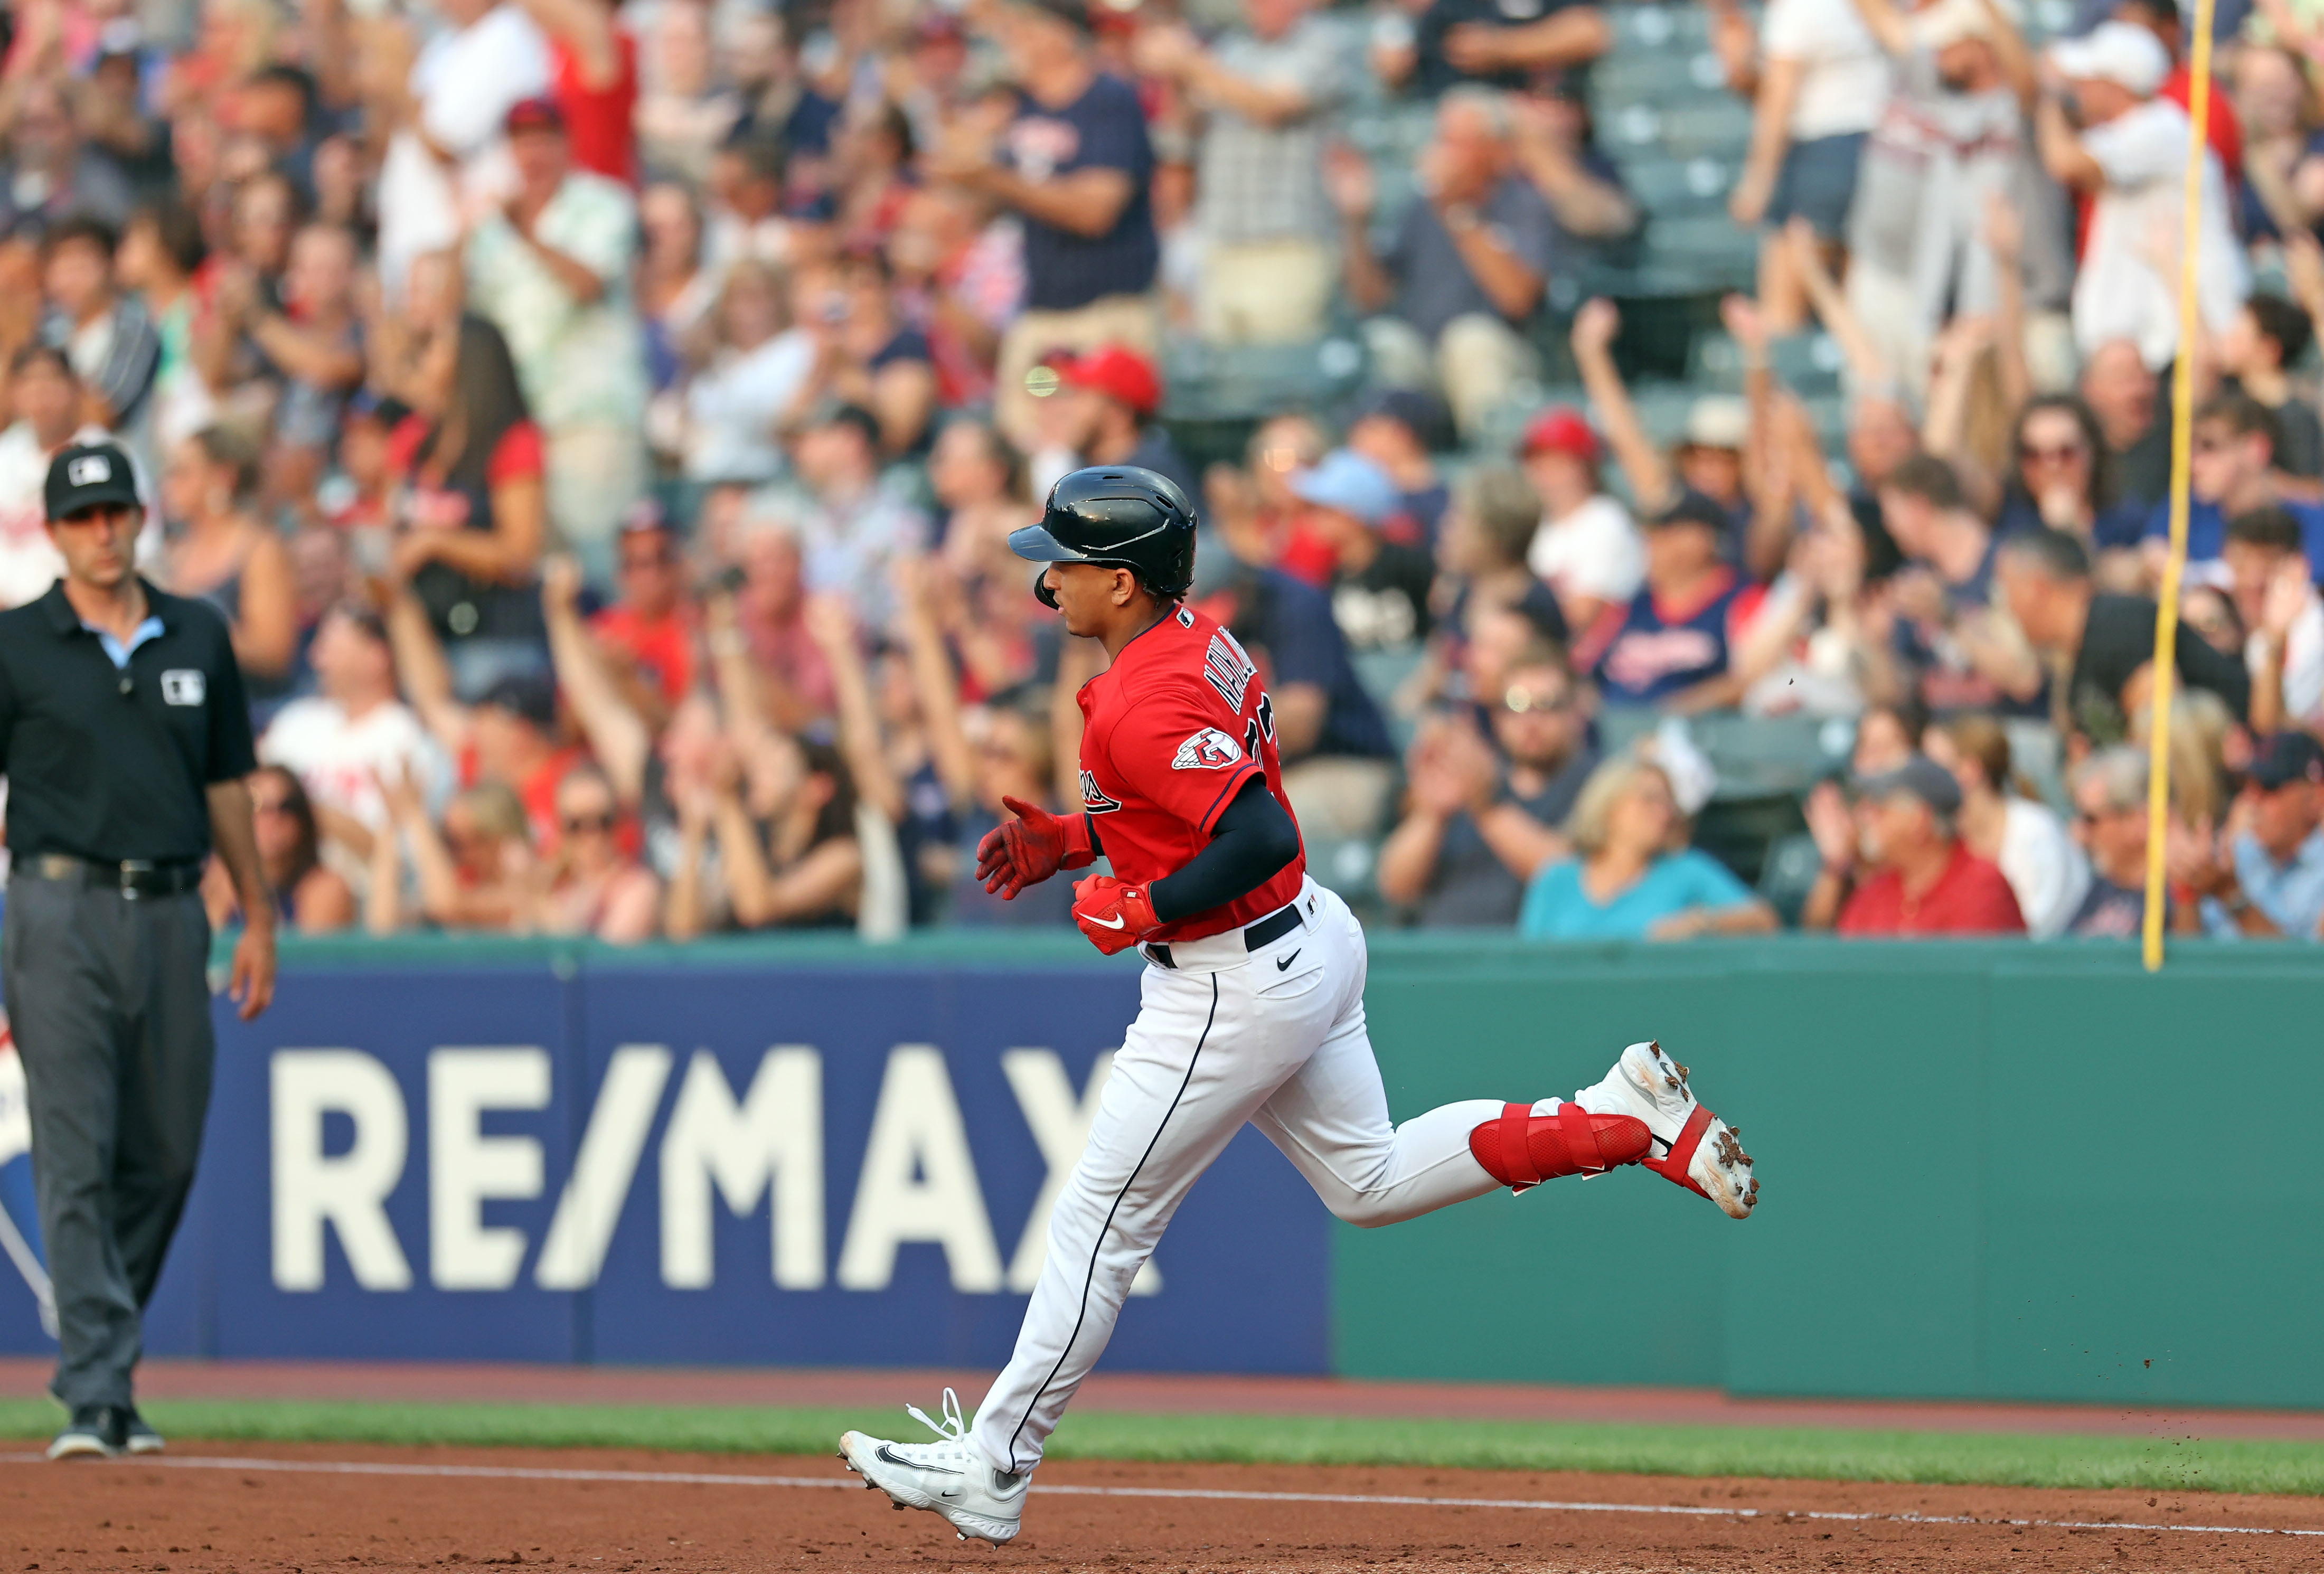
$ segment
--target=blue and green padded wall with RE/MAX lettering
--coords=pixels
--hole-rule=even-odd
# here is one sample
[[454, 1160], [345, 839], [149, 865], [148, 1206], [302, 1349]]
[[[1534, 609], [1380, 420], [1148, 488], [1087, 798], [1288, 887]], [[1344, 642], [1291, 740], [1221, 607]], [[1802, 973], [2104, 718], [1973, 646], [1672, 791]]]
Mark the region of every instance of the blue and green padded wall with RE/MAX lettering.
[[[151, 1348], [997, 1362], [1134, 1007], [1071, 937], [300, 944], [221, 1004]], [[1385, 935], [1369, 1007], [1399, 1116], [1659, 1037], [1762, 1214], [1622, 1172], [1360, 1232], [1243, 1132], [1111, 1365], [2324, 1407], [2315, 951]], [[51, 1348], [5, 1262], [0, 1348]]]

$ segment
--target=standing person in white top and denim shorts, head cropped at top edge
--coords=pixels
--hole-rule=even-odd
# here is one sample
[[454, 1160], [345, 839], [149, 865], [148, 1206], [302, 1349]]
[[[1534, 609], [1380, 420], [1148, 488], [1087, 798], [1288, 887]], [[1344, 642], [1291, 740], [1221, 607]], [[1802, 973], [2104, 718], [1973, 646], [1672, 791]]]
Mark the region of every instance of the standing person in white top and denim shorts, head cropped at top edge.
[[1727, 212], [1764, 226], [1759, 307], [1771, 332], [1808, 323], [1808, 291], [1785, 223], [1806, 219], [1838, 251], [1857, 195], [1864, 137], [1889, 98], [1889, 58], [1850, 0], [1771, 0], [1759, 23], [1759, 58], [1729, 74], [1752, 100], [1750, 149]]

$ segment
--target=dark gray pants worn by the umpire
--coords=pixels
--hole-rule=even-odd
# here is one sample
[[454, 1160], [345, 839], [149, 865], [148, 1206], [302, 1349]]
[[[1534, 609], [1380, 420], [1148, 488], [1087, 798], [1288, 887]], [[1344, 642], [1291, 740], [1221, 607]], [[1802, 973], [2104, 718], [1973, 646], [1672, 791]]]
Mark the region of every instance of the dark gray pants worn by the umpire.
[[123, 897], [16, 872], [0, 988], [33, 1114], [56, 1283], [51, 1393], [130, 1404], [144, 1307], [186, 1211], [209, 1109], [209, 916], [200, 893]]

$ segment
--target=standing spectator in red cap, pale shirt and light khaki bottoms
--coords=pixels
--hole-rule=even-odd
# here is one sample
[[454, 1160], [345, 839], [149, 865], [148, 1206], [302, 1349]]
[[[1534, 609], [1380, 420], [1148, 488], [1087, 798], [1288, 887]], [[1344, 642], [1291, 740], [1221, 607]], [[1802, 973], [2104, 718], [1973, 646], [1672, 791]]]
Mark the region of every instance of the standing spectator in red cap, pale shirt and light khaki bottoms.
[[574, 167], [555, 100], [518, 102], [507, 135], [516, 193], [469, 228], [469, 305], [507, 337], [541, 430], [548, 523], [602, 584], [614, 530], [646, 484], [637, 207], [618, 181]]

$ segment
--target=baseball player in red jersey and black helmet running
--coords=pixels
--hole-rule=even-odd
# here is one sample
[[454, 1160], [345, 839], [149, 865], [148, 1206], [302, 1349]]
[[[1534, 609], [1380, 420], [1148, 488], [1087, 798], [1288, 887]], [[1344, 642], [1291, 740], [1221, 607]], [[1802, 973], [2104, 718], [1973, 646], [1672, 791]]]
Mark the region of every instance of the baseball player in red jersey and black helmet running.
[[978, 877], [1013, 897], [1109, 858], [1113, 874], [1074, 886], [1074, 921], [1109, 956], [1146, 953], [1139, 1016], [976, 1423], [946, 1390], [941, 1421], [909, 1407], [939, 1441], [839, 1439], [865, 1486], [995, 1546], [1016, 1537], [1041, 1444], [1129, 1281], [1246, 1121], [1355, 1225], [1615, 1165], [1657, 1169], [1731, 1218], [1759, 1195], [1736, 1132], [1657, 1044], [1631, 1044], [1571, 1100], [1466, 1100], [1394, 1125], [1364, 1032], [1364, 932], [1306, 877], [1274, 707], [1234, 635], [1181, 602], [1195, 579], [1185, 493], [1150, 470], [1076, 470], [1009, 546], [1046, 565], [1034, 595], [1104, 642], [1111, 665], [1081, 691], [1081, 814], [1006, 800], [1018, 818], [983, 839]]

